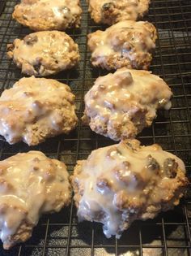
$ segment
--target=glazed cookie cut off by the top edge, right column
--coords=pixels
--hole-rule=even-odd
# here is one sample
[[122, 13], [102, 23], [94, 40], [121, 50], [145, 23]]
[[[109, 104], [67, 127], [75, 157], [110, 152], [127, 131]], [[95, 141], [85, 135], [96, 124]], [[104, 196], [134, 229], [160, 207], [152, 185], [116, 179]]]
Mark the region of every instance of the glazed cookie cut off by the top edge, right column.
[[138, 20], [146, 14], [149, 0], [89, 0], [91, 19], [112, 25], [121, 20]]

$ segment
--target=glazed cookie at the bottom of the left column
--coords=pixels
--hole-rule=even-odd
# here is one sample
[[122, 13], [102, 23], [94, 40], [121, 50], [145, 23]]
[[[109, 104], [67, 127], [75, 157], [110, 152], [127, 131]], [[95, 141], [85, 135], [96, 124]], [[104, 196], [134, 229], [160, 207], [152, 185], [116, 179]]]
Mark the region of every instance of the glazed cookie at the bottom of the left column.
[[64, 163], [39, 151], [0, 162], [0, 238], [4, 249], [28, 240], [40, 215], [70, 203]]

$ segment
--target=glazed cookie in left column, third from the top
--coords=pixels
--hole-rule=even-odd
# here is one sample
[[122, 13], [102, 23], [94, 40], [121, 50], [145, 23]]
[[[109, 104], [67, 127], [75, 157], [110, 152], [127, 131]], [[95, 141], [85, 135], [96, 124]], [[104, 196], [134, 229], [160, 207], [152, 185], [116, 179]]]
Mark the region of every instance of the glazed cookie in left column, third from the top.
[[22, 78], [0, 98], [0, 134], [10, 144], [36, 145], [78, 123], [74, 94], [57, 80]]

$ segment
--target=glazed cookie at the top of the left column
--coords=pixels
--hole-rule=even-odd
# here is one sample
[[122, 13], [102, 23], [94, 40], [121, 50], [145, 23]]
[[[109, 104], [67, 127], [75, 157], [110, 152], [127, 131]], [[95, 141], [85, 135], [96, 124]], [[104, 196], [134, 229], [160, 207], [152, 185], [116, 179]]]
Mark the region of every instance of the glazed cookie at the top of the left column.
[[13, 18], [32, 30], [78, 28], [82, 9], [79, 0], [21, 0]]

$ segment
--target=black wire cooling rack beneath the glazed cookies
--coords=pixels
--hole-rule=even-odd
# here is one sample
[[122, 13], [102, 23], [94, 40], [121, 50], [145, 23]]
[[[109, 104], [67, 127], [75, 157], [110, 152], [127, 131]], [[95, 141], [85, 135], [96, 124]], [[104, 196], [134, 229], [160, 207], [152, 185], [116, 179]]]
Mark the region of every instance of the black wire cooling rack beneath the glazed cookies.
[[[4, 1], [0, 0], [0, 7]], [[6, 58], [6, 44], [16, 37], [30, 33], [14, 20], [11, 13], [17, 1], [6, 1], [0, 16], [0, 86], [1, 91], [11, 87], [22, 77], [15, 64]], [[79, 67], [52, 76], [70, 85], [76, 95], [79, 118], [83, 115], [83, 96], [93, 85], [97, 76], [106, 74], [91, 67], [87, 50], [87, 33], [101, 28], [94, 24], [87, 13], [86, 1], [82, 1], [83, 19], [79, 29], [67, 33], [79, 44], [81, 61]], [[1, 8], [0, 8], [1, 9]], [[174, 93], [171, 111], [159, 111], [151, 128], [145, 128], [138, 139], [144, 145], [159, 143], [164, 150], [177, 154], [185, 161], [188, 176], [191, 173], [191, 1], [151, 0], [146, 20], [158, 29], [159, 40], [151, 71], [163, 77]], [[87, 158], [91, 150], [113, 142], [91, 132], [79, 121], [69, 136], [59, 136], [45, 143], [28, 147], [23, 143], [8, 145], [0, 139], [0, 157], [7, 158], [18, 152], [41, 150], [51, 158], [66, 163], [71, 172], [77, 159]], [[121, 240], [106, 239], [98, 223], [79, 223], [74, 202], [58, 214], [45, 215], [34, 229], [32, 238], [6, 252], [0, 245], [0, 255], [190, 255], [191, 195], [189, 192], [175, 210], [160, 214], [156, 219], [136, 221]]]

